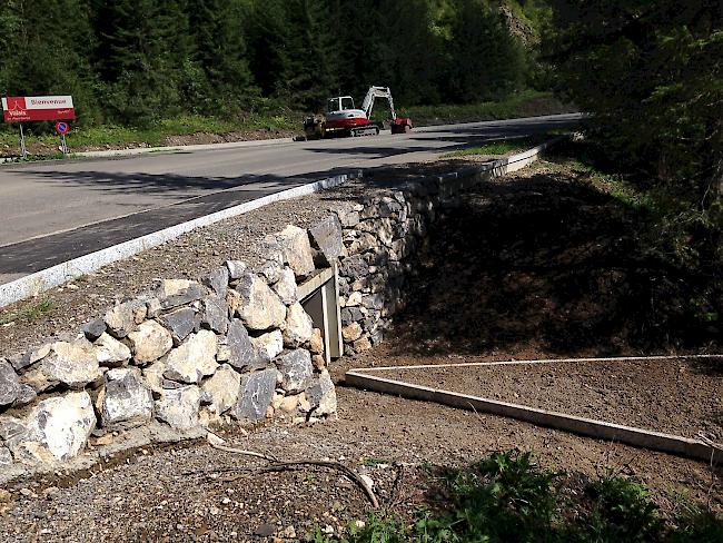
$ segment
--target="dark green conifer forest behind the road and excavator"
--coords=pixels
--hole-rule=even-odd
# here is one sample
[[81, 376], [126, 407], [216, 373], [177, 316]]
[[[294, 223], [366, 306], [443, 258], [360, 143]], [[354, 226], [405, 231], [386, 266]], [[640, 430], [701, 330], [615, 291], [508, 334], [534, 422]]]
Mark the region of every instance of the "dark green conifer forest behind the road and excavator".
[[536, 6], [2, 0], [0, 92], [72, 93], [81, 125], [310, 110], [369, 85], [408, 106], [497, 99], [525, 88], [534, 65], [506, 13], [534, 19]]

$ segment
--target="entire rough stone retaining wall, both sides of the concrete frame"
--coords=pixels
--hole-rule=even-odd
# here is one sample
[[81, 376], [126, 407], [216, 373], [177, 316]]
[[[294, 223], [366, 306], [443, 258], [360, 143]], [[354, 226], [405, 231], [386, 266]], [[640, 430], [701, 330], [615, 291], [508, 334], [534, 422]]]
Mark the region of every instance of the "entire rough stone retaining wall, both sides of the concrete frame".
[[0, 472], [92, 456], [138, 430], [148, 443], [235, 421], [334, 415], [321, 332], [298, 286], [337, 267], [345, 354], [369, 349], [404, 306], [438, 205], [475, 181], [375, 189], [308, 230], [267, 236], [252, 266], [158, 280], [76, 336], [0, 358]]

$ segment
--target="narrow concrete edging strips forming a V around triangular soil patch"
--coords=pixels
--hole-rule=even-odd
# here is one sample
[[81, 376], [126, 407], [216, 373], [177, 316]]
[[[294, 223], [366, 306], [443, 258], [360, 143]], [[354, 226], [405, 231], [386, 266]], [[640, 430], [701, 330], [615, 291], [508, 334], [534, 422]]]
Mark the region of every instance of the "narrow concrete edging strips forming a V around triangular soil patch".
[[657, 356], [657, 357], [628, 357], [628, 358], [565, 358], [549, 361], [514, 361], [507, 363], [474, 363], [474, 364], [444, 364], [440, 366], [387, 366], [373, 368], [355, 368], [346, 373], [346, 383], [356, 388], [363, 388], [383, 394], [393, 394], [407, 399], [419, 399], [424, 402], [434, 402], [449, 407], [456, 407], [467, 411], [477, 411], [491, 413], [493, 415], [506, 416], [518, 421], [546, 426], [555, 430], [562, 430], [574, 434], [593, 437], [596, 440], [606, 440], [611, 442], [624, 443], [642, 448], [650, 448], [663, 453], [685, 456], [704, 462], [723, 461], [723, 450], [702, 441], [682, 437], [679, 435], [664, 434], [621, 424], [607, 423], [593, 418], [585, 418], [554, 411], [527, 407], [507, 402], [471, 396], [450, 391], [433, 388], [424, 385], [413, 385], [410, 383], [388, 379], [368, 375], [373, 372], [385, 371], [405, 371], [405, 369], [425, 369], [435, 367], [469, 367], [484, 365], [518, 365], [518, 364], [542, 364], [554, 362], [622, 362], [626, 359], [672, 359], [672, 358], [723, 358], [723, 355], [693, 355], [693, 356]]

